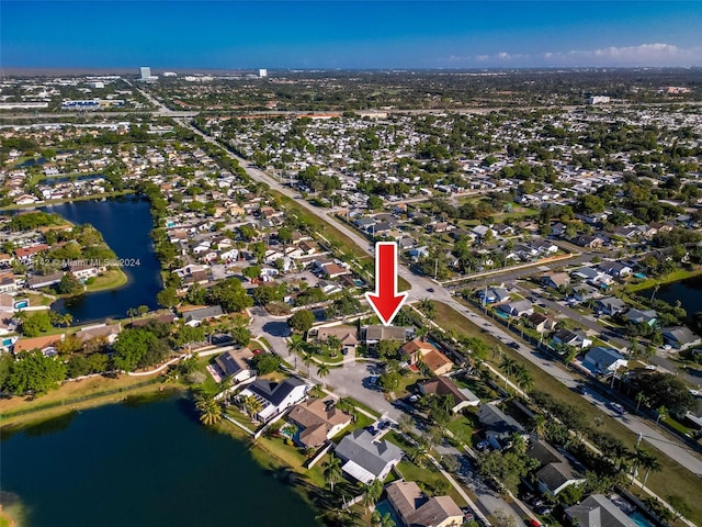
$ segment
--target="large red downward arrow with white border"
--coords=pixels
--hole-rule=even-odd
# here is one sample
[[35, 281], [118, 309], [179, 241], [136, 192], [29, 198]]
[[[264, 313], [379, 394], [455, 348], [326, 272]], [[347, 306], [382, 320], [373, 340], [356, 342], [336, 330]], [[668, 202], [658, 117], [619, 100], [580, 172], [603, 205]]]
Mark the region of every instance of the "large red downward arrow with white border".
[[407, 293], [397, 293], [397, 243], [375, 244], [375, 294], [365, 293], [384, 326], [389, 326], [401, 307]]

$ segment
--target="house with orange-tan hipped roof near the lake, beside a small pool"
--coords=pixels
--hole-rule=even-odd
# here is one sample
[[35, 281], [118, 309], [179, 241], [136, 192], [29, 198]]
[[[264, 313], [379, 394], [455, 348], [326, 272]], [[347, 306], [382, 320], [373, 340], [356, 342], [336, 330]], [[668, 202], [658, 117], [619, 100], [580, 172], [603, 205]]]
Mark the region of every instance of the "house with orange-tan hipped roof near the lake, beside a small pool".
[[288, 421], [299, 428], [297, 441], [303, 447], [316, 448], [351, 424], [351, 416], [331, 403], [331, 400], [308, 399], [287, 414]]

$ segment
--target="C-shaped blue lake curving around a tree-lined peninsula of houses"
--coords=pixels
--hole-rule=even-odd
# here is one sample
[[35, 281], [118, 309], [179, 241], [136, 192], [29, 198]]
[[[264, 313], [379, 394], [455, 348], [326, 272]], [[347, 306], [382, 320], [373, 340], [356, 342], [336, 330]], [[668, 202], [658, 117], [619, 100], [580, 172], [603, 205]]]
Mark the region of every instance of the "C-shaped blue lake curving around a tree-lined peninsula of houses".
[[90, 223], [115, 251], [117, 258], [138, 260], [138, 265], [122, 270], [129, 281], [122, 288], [81, 294], [58, 300], [52, 309], [70, 313], [73, 324], [101, 321], [106, 317], [125, 317], [131, 307], [147, 305], [158, 307], [156, 295], [161, 290], [160, 265], [151, 245], [154, 225], [149, 203], [134, 195], [105, 201], [76, 201], [43, 209], [77, 223]]

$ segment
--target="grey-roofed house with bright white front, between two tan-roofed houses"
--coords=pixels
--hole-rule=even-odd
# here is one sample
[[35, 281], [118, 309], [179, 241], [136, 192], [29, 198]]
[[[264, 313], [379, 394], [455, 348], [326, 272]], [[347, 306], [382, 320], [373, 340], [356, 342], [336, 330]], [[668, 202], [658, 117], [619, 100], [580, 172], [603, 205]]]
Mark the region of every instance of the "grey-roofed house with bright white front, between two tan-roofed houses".
[[361, 428], [344, 436], [335, 453], [344, 461], [341, 469], [355, 480], [369, 484], [385, 480], [405, 452], [384, 439], [375, 440], [370, 431]]

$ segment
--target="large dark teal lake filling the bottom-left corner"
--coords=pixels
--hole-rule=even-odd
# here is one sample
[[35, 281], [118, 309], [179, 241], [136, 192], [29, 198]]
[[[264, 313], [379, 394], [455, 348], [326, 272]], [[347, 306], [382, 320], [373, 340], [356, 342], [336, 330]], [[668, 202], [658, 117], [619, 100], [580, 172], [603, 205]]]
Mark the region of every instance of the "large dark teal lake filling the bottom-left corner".
[[23, 527], [318, 525], [245, 444], [197, 423], [184, 397], [2, 431], [2, 491], [21, 503]]

